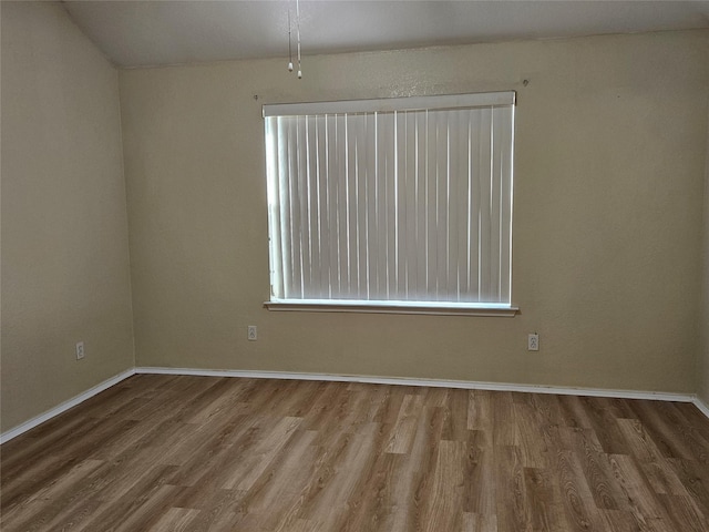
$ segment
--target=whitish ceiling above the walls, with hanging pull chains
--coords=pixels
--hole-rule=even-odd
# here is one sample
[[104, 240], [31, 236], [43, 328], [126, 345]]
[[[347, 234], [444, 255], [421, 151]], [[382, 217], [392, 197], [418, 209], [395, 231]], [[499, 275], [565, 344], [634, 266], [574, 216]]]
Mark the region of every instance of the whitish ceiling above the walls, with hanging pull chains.
[[[64, 0], [117, 65], [287, 58], [296, 0]], [[302, 54], [709, 28], [709, 0], [300, 0]], [[294, 50], [295, 53], [295, 50]]]

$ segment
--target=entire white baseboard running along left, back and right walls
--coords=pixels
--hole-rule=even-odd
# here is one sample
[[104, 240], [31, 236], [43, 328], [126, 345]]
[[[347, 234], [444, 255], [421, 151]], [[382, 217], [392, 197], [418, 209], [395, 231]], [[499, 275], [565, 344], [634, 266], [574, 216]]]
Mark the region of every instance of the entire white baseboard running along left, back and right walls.
[[364, 377], [357, 375], [332, 375], [332, 374], [298, 374], [281, 371], [243, 371], [229, 369], [193, 369], [193, 368], [151, 368], [141, 367], [123, 371], [111, 379], [86, 390], [85, 392], [62, 402], [55, 408], [25, 421], [24, 423], [0, 434], [0, 444], [10, 441], [23, 432], [33, 429], [40, 423], [48, 421], [55, 416], [69, 410], [72, 407], [92, 398], [93, 396], [117, 385], [124, 379], [136, 374], [154, 375], [194, 375], [202, 377], [242, 377], [248, 379], [286, 379], [286, 380], [325, 380], [333, 382], [364, 382], [372, 385], [397, 385], [397, 386], [430, 386], [435, 388], [461, 388], [466, 390], [491, 390], [491, 391], [518, 391], [526, 393], [556, 393], [562, 396], [587, 396], [587, 397], [609, 397], [618, 399], [649, 399], [656, 401], [692, 402], [707, 418], [709, 418], [709, 407], [698, 397], [687, 393], [667, 393], [658, 391], [635, 391], [635, 390], [609, 390], [600, 388], [565, 388], [556, 386], [538, 385], [513, 385], [507, 382], [482, 382], [469, 380], [439, 380], [439, 379], [412, 379], [403, 377]]

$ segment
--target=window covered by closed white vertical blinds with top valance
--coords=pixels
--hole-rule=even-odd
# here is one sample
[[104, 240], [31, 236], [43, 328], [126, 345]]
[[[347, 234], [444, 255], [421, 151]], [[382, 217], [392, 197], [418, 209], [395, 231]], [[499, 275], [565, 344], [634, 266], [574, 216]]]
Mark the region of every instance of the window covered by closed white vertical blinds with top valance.
[[514, 100], [264, 105], [267, 306], [514, 314]]

